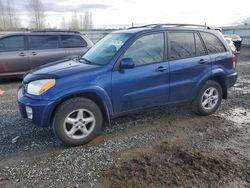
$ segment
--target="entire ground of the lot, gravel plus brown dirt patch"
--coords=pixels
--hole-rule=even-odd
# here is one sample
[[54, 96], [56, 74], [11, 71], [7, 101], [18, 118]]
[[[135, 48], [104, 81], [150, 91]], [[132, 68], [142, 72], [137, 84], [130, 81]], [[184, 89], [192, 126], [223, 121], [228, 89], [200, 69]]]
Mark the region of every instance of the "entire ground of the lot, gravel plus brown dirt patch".
[[250, 50], [219, 111], [160, 108], [112, 121], [90, 144], [65, 148], [20, 118], [19, 80], [0, 87], [0, 187], [250, 187]]

